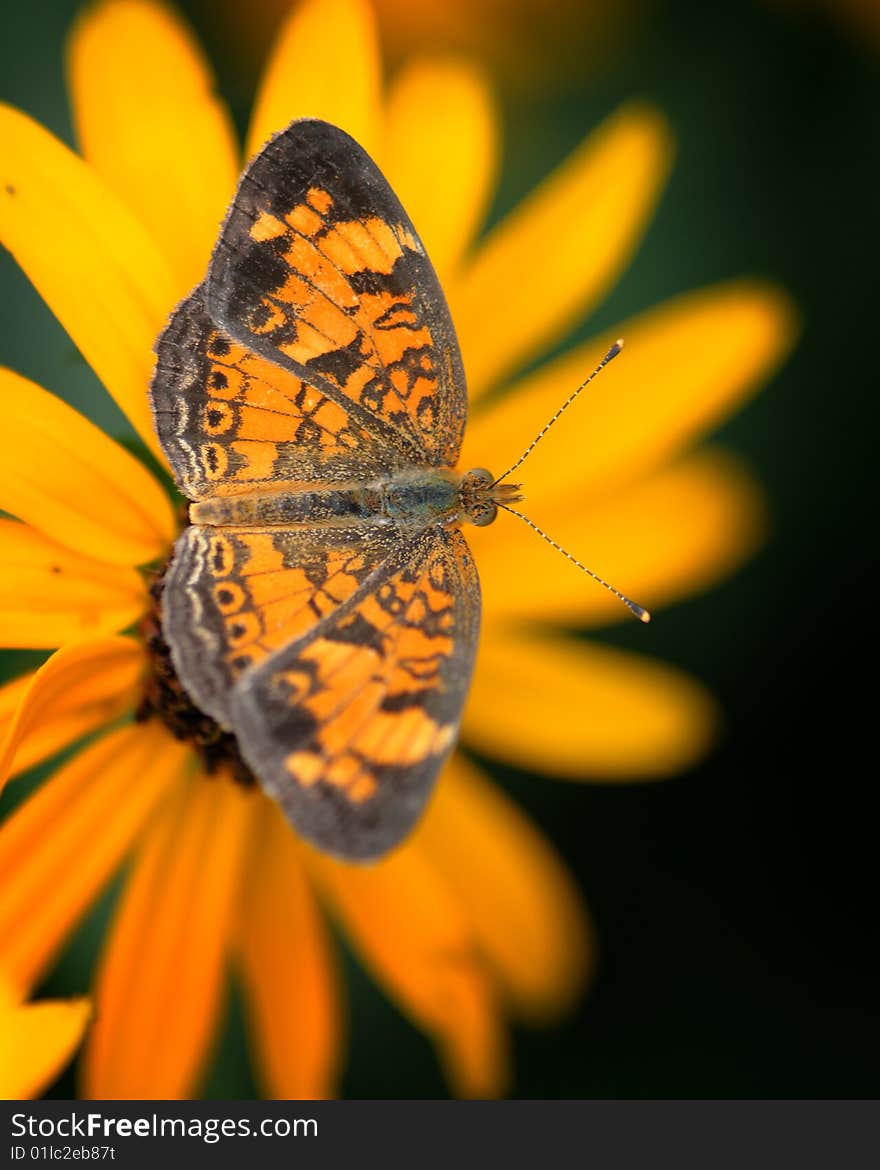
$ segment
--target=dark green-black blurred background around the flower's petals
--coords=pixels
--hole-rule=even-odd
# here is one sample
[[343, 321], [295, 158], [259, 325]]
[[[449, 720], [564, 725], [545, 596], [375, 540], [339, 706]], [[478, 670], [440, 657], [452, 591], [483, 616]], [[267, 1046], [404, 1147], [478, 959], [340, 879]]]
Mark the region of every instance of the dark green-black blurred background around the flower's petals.
[[[0, 42], [0, 97], [68, 142], [62, 54], [78, 7], [5, 6]], [[243, 126], [288, 5], [180, 7]], [[647, 632], [632, 622], [606, 635], [708, 684], [727, 720], [719, 749], [660, 784], [554, 784], [494, 768], [577, 875], [601, 948], [579, 1010], [556, 1028], [517, 1032], [515, 1093], [875, 1096], [867, 635], [876, 625], [868, 461], [880, 397], [880, 5], [381, 0], [379, 9], [391, 68], [414, 49], [452, 48], [491, 70], [506, 132], [493, 220], [621, 102], [644, 97], [666, 112], [679, 144], [672, 181], [635, 261], [577, 336], [740, 275], [786, 288], [804, 322], [782, 372], [719, 435], [766, 490], [769, 544]], [[89, 400], [92, 418], [122, 433], [109, 399], [95, 408], [94, 376], [5, 255], [0, 360], [75, 404]], [[25, 661], [11, 655], [7, 673]], [[83, 990], [78, 972], [111, 897], [43, 993]], [[427, 1041], [348, 966], [343, 1092], [445, 1095]], [[73, 1095], [73, 1083], [67, 1074], [54, 1095]], [[233, 1005], [206, 1095], [253, 1092]]]

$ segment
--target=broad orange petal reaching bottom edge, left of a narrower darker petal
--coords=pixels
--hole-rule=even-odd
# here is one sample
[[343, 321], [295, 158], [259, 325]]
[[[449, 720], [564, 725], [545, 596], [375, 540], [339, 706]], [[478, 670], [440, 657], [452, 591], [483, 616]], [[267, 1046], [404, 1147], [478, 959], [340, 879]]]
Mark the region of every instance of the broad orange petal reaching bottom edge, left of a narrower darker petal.
[[151, 826], [101, 961], [84, 1096], [193, 1092], [220, 1009], [254, 800], [198, 775]]

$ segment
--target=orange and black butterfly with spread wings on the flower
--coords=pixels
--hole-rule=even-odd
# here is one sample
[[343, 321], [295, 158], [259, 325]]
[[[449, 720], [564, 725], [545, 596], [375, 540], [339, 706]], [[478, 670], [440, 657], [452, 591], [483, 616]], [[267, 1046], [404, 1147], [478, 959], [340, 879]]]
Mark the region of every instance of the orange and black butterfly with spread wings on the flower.
[[452, 750], [480, 583], [461, 525], [520, 498], [455, 470], [467, 418], [442, 289], [379, 168], [293, 122], [245, 170], [150, 387], [190, 524], [161, 629], [297, 833], [400, 842]]

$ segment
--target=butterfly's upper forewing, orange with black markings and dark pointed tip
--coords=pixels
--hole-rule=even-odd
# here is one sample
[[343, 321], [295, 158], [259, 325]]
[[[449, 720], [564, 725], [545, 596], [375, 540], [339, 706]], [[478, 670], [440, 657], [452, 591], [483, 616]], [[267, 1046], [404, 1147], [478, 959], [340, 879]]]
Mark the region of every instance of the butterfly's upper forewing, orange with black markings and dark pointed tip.
[[465, 374], [440, 282], [386, 179], [325, 122], [252, 160], [224, 223], [209, 317], [345, 408], [393, 463], [454, 467]]

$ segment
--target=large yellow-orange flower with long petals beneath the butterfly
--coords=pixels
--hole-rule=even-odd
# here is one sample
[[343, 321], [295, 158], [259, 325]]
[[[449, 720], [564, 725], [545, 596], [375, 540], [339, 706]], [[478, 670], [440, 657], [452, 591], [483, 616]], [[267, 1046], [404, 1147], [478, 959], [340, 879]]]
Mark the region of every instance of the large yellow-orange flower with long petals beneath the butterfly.
[[[0, 108], [0, 239], [158, 456], [151, 346], [205, 271], [241, 157], [206, 63], [164, 6], [97, 4], [69, 63], [82, 159]], [[415, 61], [384, 94], [366, 4], [310, 0], [279, 37], [246, 153], [297, 115], [351, 132], [411, 212], [469, 373], [463, 463], [502, 469], [607, 339], [487, 392], [619, 274], [668, 167], [662, 118], [620, 111], [474, 246], [499, 151], [480, 73]], [[536, 450], [527, 490], [557, 539], [653, 608], [729, 572], [757, 539], [747, 473], [683, 452], [778, 362], [791, 310], [771, 288], [736, 283], [616, 332], [626, 356]], [[0, 964], [18, 989], [131, 856], [94, 990], [84, 1093], [194, 1092], [228, 962], [267, 1093], [332, 1093], [341, 989], [316, 894], [432, 1037], [453, 1090], [503, 1092], [507, 1016], [559, 1012], [590, 966], [589, 925], [551, 848], [456, 756], [411, 840], [374, 867], [346, 867], [298, 842], [262, 796], [206, 782], [161, 724], [132, 721], [146, 659], [118, 632], [149, 607], [137, 566], [167, 556], [173, 510], [144, 464], [69, 406], [8, 371], [0, 391], [0, 508], [16, 517], [0, 519], [0, 644], [61, 647], [0, 690], [0, 763], [19, 773], [99, 732], [0, 831]], [[660, 776], [706, 749], [714, 707], [697, 683], [564, 632], [621, 615], [604, 591], [513, 519], [472, 537], [484, 632], [468, 743], [569, 778]]]

